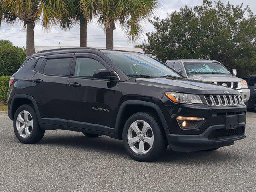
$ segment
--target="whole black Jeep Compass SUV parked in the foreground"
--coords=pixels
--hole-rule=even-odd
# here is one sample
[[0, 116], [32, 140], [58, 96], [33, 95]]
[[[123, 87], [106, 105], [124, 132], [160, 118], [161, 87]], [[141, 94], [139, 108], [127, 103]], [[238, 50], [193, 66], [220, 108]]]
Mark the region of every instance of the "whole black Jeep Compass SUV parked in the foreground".
[[136, 52], [69, 48], [28, 56], [10, 78], [8, 115], [22, 143], [45, 130], [122, 139], [138, 161], [216, 150], [245, 138], [237, 90], [189, 80]]

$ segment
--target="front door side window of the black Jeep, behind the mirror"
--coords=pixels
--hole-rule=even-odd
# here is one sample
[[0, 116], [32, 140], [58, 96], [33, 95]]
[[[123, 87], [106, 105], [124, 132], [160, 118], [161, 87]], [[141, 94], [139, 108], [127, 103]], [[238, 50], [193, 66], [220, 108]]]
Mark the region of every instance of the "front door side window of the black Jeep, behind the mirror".
[[97, 69], [106, 69], [100, 62], [91, 58], [76, 58], [75, 76], [93, 77]]

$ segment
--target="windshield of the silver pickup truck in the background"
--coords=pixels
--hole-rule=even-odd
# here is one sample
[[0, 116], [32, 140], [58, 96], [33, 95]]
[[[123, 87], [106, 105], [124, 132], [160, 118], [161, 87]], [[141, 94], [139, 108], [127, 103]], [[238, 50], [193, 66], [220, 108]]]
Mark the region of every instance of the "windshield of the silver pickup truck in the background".
[[187, 74], [229, 74], [228, 70], [216, 62], [185, 62]]

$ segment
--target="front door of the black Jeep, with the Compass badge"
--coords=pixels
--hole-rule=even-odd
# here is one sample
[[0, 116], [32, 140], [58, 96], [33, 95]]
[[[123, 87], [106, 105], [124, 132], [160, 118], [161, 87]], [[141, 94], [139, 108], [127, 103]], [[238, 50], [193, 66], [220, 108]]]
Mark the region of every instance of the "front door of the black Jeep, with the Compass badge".
[[[114, 71], [96, 54], [80, 53], [74, 57], [67, 88], [69, 126], [101, 130], [102, 126], [95, 126], [99, 124], [114, 128], [114, 114], [121, 97], [116, 94], [118, 81], [93, 78], [98, 69]], [[108, 132], [108, 128], [103, 131]]]

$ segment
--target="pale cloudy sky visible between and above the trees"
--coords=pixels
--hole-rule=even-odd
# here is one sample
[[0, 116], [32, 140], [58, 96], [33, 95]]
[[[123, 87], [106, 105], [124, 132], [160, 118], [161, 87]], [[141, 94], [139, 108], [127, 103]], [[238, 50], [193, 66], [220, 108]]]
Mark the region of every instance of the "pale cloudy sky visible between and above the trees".
[[[228, 0], [221, 0], [228, 3]], [[161, 19], [166, 18], [168, 13], [179, 10], [185, 5], [193, 7], [202, 4], [203, 0], [160, 0], [160, 7], [156, 10], [155, 16]], [[256, 0], [229, 0], [231, 4], [238, 5], [243, 3], [244, 6], [249, 5], [254, 14], [256, 14]], [[117, 25], [114, 30], [114, 47], [133, 47], [136, 44], [141, 44], [146, 40], [146, 33], [153, 31], [154, 27], [148, 21], [144, 21], [143, 34], [141, 38], [134, 43], [126, 40], [125, 33], [122, 28]], [[50, 30], [45, 31], [40, 26], [40, 22], [36, 24], [35, 31], [35, 46], [79, 46], [79, 26], [75, 26], [72, 30], [64, 31], [60, 28], [52, 27]], [[105, 32], [98, 25], [96, 19], [88, 24], [88, 47], [106, 47]], [[10, 40], [15, 46], [26, 47], [26, 30], [22, 28], [20, 22], [13, 26], [8, 26], [5, 23], [0, 26], [0, 39]]]

